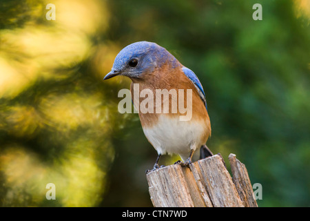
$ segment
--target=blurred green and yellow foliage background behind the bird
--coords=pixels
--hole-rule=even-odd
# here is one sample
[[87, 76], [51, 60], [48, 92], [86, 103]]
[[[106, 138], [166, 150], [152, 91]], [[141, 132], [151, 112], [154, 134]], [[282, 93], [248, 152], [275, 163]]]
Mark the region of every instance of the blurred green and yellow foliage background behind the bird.
[[310, 206], [309, 1], [57, 0], [55, 21], [48, 3], [0, 3], [1, 206], [152, 206], [156, 152], [138, 116], [117, 111], [130, 81], [102, 81], [141, 40], [198, 75], [207, 145], [245, 163], [259, 206]]

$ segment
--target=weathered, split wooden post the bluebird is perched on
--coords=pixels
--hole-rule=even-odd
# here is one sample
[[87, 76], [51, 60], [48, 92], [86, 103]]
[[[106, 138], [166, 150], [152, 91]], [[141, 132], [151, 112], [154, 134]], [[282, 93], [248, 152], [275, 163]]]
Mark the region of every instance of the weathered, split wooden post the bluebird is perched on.
[[231, 178], [223, 158], [214, 155], [188, 167], [165, 166], [147, 173], [154, 206], [257, 207], [245, 165], [229, 155]]

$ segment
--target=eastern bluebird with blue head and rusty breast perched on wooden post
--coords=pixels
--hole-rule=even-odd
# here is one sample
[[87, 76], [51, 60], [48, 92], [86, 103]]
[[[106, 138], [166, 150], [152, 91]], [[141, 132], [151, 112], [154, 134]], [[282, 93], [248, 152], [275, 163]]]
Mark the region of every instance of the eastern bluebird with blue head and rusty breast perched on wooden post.
[[179, 89], [192, 90], [192, 97], [169, 100], [171, 109], [173, 104], [177, 106], [180, 102], [188, 104], [187, 99], [190, 100], [189, 104], [192, 102], [192, 107], [187, 106], [192, 108], [192, 116], [188, 120], [180, 120], [180, 116], [185, 114], [181, 113], [179, 108], [174, 113], [161, 111], [158, 113], [158, 110], [161, 110], [158, 105], [163, 105], [166, 102], [165, 99], [159, 103], [155, 102], [152, 113], [138, 112], [145, 137], [158, 153], [154, 170], [158, 169], [160, 157], [165, 153], [177, 153], [184, 162], [179, 163], [187, 166], [192, 162], [198, 147], [200, 147], [200, 158], [213, 155], [205, 145], [211, 135], [205, 92], [192, 70], [180, 64], [172, 54], [158, 44], [139, 41], [126, 46], [118, 53], [111, 72], [103, 79], [116, 75], [127, 76], [132, 80], [130, 91], [136, 109], [143, 102], [143, 97], [138, 99], [134, 97], [134, 84], [138, 84], [139, 93], [143, 89], [149, 89], [157, 97], [158, 89], [175, 90], [179, 97], [181, 95]]

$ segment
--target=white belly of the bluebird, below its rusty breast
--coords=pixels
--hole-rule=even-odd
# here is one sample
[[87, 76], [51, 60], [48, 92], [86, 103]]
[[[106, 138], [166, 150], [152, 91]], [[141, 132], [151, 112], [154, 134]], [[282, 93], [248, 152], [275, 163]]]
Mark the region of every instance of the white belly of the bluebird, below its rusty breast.
[[143, 131], [158, 154], [177, 153], [186, 160], [191, 148], [195, 151], [203, 144], [205, 129], [198, 121], [180, 121], [179, 117], [160, 115], [156, 125]]

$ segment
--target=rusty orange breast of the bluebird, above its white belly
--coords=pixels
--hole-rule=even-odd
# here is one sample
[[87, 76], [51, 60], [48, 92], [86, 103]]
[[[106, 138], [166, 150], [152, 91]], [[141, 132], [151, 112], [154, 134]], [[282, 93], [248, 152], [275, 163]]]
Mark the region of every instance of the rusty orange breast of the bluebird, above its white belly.
[[[134, 84], [138, 84], [138, 93], [140, 95], [141, 91], [144, 89], [152, 90], [154, 95], [154, 108], [153, 113], [141, 113], [139, 111], [139, 117], [141, 120], [141, 125], [143, 127], [152, 127], [158, 121], [159, 115], [167, 115], [169, 117], [179, 117], [182, 115], [186, 115], [186, 113], [180, 113], [178, 108], [178, 99], [172, 99], [169, 95], [169, 113], [163, 113], [163, 109], [161, 113], [156, 113], [156, 89], [167, 89], [175, 90], [177, 97], [179, 97], [179, 89], [184, 90], [184, 98], [183, 101], [186, 107], [187, 99], [192, 99], [192, 119], [191, 121], [202, 121], [206, 126], [205, 134], [203, 137], [209, 137], [211, 134], [211, 126], [209, 121], [209, 115], [203, 104], [203, 101], [200, 99], [198, 91], [196, 90], [192, 81], [190, 81], [187, 76], [183, 73], [182, 65], [179, 64], [177, 67], [172, 68], [169, 64], [164, 64], [160, 69], [156, 69], [152, 73], [144, 73], [143, 76], [139, 79], [132, 79], [131, 85], [131, 93], [132, 93], [132, 100], [134, 104], [141, 104], [146, 97], [134, 97]], [[187, 89], [192, 89], [192, 97], [187, 97]], [[137, 93], [136, 93], [137, 94]], [[162, 97], [163, 98], [163, 97]], [[176, 102], [176, 113], [172, 113], [172, 102]], [[161, 99], [160, 103], [161, 107], [163, 108], [164, 100]], [[187, 107], [186, 107], [187, 108]]]

